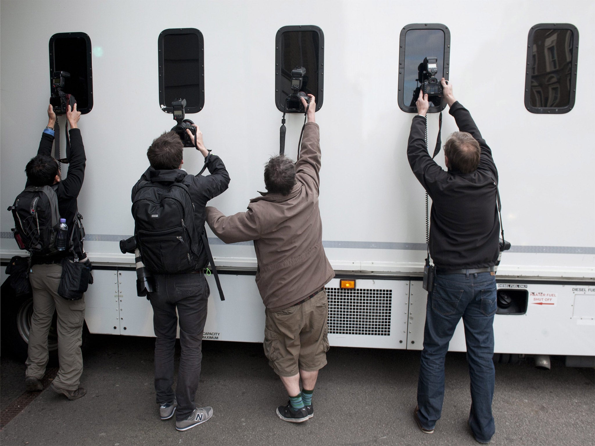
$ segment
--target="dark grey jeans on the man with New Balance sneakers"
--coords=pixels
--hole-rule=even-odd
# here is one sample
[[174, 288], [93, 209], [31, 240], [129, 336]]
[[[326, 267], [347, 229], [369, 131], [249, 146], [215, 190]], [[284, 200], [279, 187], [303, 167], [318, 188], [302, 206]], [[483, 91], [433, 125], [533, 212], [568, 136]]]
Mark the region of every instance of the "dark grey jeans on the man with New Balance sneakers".
[[[180, 367], [175, 397], [176, 420], [190, 416], [201, 375], [202, 333], [205, 329], [209, 285], [202, 272], [155, 275], [155, 291], [149, 293], [155, 330], [156, 402], [174, 400], [174, 348], [180, 322]], [[176, 315], [177, 309], [177, 315]]]

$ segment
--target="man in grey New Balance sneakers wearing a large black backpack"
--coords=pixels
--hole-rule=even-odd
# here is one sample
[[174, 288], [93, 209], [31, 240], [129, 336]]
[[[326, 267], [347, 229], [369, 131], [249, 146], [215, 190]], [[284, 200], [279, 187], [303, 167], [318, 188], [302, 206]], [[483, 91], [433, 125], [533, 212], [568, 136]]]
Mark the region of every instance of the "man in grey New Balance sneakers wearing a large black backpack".
[[[198, 126], [192, 143], [205, 157], [210, 175], [189, 175], [183, 164], [183, 141], [175, 131], [163, 133], [147, 150], [151, 167], [132, 189], [134, 237], [140, 257], [153, 274], [147, 299], [155, 330], [155, 391], [162, 420], [176, 414], [176, 429], [186, 431], [206, 420], [211, 407], [196, 407], [201, 374], [202, 334], [209, 286], [202, 269], [208, 262], [203, 243], [205, 206], [227, 189], [230, 178], [223, 161], [205, 148]], [[206, 240], [206, 238], [205, 238]], [[177, 315], [176, 315], [177, 310]], [[180, 323], [180, 368], [176, 392], [174, 346]]]

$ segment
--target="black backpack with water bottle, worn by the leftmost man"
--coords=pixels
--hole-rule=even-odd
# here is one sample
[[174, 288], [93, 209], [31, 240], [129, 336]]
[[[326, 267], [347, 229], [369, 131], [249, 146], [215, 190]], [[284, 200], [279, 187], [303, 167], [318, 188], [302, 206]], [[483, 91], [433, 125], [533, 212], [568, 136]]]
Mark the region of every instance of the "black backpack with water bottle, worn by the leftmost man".
[[20, 249], [36, 256], [48, 256], [56, 249], [56, 235], [60, 225], [58, 196], [54, 186], [28, 186], [8, 208], [14, 217], [12, 233]]

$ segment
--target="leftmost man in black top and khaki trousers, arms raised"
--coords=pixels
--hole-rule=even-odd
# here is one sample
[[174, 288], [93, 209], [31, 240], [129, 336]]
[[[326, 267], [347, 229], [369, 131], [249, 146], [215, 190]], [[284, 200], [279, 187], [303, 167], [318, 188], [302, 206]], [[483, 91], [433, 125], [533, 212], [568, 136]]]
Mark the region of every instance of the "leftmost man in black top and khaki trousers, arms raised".
[[[43, 130], [37, 156], [32, 158], [25, 169], [28, 186], [52, 186], [58, 184], [58, 210], [60, 216], [66, 219], [68, 237], [73, 236], [74, 256], [79, 262], [85, 262], [83, 242], [79, 229], [75, 224], [78, 205], [77, 197], [83, 186], [86, 158], [84, 155], [83, 139], [77, 123], [80, 112], [74, 104], [68, 109], [66, 118], [70, 123], [70, 150], [66, 153], [70, 160], [68, 174], [64, 180], [60, 178], [60, 170], [52, 158], [52, 144], [54, 143], [54, 125], [56, 115], [50, 105], [48, 107], [48, 126]], [[74, 231], [74, 234], [72, 234]], [[40, 379], [45, 374], [48, 364], [48, 332], [52, 325], [54, 309], [58, 313], [58, 359], [60, 370], [54, 381], [52, 390], [64, 394], [70, 400], [83, 397], [86, 391], [80, 387], [80, 376], [83, 373], [83, 356], [80, 351], [82, 344], [84, 323], [84, 297], [80, 300], [65, 300], [58, 294], [58, 285], [62, 275], [61, 262], [64, 257], [73, 256], [65, 250], [53, 256], [32, 256], [32, 268], [29, 280], [33, 290], [33, 315], [29, 332], [29, 350], [27, 357], [27, 371], [25, 384], [29, 391], [43, 389]]]

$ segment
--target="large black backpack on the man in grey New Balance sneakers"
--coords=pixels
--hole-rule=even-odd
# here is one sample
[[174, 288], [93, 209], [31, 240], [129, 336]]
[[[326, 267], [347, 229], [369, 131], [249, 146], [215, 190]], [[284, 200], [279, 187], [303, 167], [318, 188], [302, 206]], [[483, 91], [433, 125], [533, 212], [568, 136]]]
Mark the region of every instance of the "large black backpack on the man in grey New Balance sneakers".
[[142, 261], [156, 274], [198, 271], [201, 233], [185, 184], [142, 181], [132, 200], [134, 237]]

